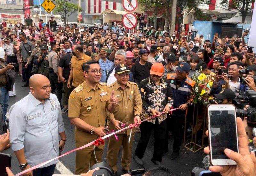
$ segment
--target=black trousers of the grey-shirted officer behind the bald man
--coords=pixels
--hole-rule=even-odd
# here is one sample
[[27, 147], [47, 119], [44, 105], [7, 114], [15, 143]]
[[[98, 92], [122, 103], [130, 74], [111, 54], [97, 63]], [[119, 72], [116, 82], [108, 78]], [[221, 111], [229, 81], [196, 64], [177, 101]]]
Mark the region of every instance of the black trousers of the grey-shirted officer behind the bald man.
[[[52, 94], [55, 94], [58, 98], [58, 101], [61, 103], [62, 97], [62, 82], [58, 83], [58, 76], [56, 73], [49, 73], [49, 78], [51, 82]], [[56, 91], [56, 93], [55, 93]]]

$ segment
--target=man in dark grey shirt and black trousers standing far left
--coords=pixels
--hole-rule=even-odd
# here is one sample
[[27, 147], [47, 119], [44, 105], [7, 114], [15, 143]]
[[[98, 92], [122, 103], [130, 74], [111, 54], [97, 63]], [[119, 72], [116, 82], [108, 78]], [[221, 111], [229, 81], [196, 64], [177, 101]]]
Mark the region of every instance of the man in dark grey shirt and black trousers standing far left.
[[26, 84], [21, 87], [29, 86], [29, 78], [31, 76], [32, 64], [29, 64], [27, 67], [25, 65], [28, 62], [29, 56], [32, 54], [32, 50], [34, 49], [34, 45], [32, 42], [28, 41], [26, 38], [26, 34], [20, 33], [19, 38], [22, 42], [20, 42], [20, 61], [22, 62], [22, 75], [24, 74], [26, 77]]

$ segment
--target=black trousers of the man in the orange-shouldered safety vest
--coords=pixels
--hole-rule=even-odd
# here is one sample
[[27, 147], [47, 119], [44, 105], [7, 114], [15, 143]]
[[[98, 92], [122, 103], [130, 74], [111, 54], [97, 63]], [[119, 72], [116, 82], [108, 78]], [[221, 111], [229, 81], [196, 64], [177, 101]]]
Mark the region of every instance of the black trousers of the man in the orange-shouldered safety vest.
[[172, 119], [172, 132], [173, 132], [173, 145], [172, 145], [172, 151], [179, 152], [180, 146], [182, 142], [182, 125], [185, 122], [185, 117], [176, 117], [171, 116]]

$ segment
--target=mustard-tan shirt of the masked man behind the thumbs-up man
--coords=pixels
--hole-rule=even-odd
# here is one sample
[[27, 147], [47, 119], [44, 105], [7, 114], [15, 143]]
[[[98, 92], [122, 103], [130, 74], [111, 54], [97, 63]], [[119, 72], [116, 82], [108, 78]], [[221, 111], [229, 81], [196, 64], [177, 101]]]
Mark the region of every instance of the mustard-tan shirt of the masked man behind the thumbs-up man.
[[77, 58], [76, 56], [73, 56], [71, 58], [71, 68], [73, 69], [72, 85], [74, 87], [77, 87], [84, 82], [84, 74], [83, 74], [82, 66], [85, 62], [89, 60], [92, 60], [92, 58], [85, 54], [83, 54], [81, 58]]

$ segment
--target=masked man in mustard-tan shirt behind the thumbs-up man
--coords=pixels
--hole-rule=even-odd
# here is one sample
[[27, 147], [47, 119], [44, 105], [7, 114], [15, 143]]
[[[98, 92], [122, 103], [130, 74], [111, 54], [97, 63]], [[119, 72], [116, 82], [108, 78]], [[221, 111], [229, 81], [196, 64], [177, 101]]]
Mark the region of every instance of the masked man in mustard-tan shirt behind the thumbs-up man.
[[71, 80], [73, 80], [73, 87], [77, 87], [84, 82], [84, 75], [82, 70], [82, 65], [92, 60], [91, 57], [83, 53], [83, 47], [81, 45], [76, 45], [72, 50], [73, 57], [71, 58], [71, 71], [69, 73], [67, 87], [71, 88]]

